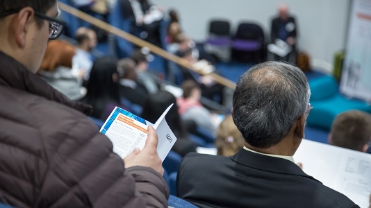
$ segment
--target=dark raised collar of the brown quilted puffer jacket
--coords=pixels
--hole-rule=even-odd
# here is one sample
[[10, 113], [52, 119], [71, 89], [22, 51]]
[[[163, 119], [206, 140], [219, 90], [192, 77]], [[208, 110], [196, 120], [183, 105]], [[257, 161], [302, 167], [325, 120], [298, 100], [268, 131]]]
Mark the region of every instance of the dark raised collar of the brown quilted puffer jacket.
[[62, 93], [45, 83], [42, 78], [28, 71], [24, 65], [2, 51], [0, 51], [0, 62], [0, 86], [42, 96], [49, 101], [67, 105], [87, 115], [92, 113], [90, 105], [69, 100]]

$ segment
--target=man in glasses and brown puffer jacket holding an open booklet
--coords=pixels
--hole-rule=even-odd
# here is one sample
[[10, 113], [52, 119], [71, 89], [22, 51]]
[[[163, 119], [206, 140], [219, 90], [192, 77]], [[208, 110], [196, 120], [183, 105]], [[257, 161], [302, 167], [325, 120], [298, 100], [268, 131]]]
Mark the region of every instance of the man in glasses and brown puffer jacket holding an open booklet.
[[65, 26], [57, 15], [56, 0], [0, 1], [0, 204], [166, 207], [154, 129], [123, 162], [84, 115], [90, 106], [35, 76]]

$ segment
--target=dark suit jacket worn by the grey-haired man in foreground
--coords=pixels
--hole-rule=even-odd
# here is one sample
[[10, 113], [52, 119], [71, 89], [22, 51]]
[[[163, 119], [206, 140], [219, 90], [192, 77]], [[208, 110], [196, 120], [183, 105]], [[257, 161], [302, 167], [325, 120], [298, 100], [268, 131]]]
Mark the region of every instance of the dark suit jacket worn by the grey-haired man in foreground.
[[293, 162], [243, 149], [231, 157], [188, 154], [177, 191], [199, 207], [358, 207]]

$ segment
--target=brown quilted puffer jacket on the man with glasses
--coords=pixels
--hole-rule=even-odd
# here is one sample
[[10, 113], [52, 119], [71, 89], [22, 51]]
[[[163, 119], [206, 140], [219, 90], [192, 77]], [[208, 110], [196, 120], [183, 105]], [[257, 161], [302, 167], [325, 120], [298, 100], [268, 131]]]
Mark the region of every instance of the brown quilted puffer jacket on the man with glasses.
[[[80, 111], [80, 112], [79, 112]], [[0, 51], [0, 202], [15, 207], [167, 207], [151, 168], [124, 168], [88, 105]]]

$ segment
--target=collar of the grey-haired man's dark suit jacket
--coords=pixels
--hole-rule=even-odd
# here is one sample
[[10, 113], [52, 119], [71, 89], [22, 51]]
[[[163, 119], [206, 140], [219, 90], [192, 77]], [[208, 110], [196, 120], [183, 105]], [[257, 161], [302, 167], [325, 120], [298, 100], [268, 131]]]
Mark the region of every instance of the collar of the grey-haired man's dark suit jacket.
[[295, 163], [288, 161], [287, 159], [261, 155], [244, 149], [239, 150], [236, 155], [231, 156], [231, 159], [238, 164], [256, 168], [262, 171], [286, 175], [298, 175], [320, 182], [314, 177], [306, 175], [306, 173], [302, 171], [302, 168], [297, 166]]

